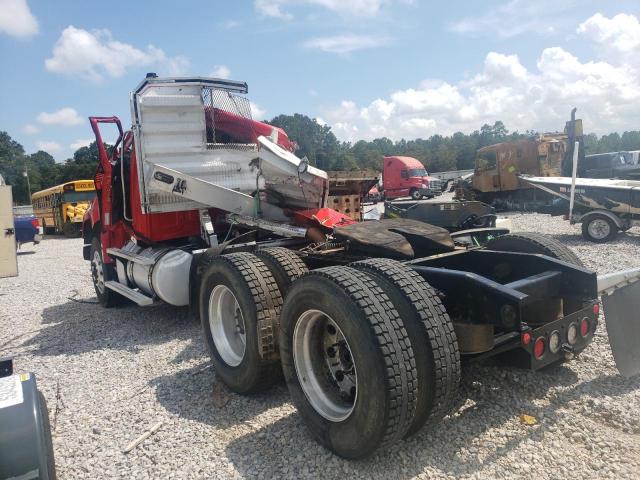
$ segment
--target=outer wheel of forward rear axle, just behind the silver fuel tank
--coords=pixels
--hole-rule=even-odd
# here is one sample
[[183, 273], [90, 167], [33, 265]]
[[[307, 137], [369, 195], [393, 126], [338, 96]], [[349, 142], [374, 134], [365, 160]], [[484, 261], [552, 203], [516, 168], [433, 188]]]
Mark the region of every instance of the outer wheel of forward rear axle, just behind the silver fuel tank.
[[281, 378], [278, 285], [251, 253], [213, 258], [200, 285], [200, 318], [216, 376], [231, 390], [253, 393]]

